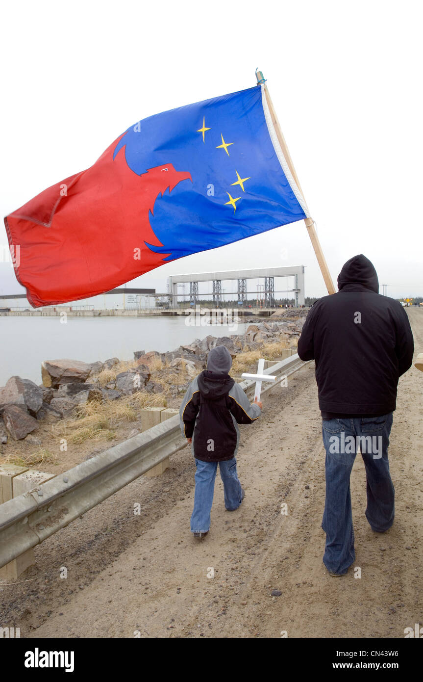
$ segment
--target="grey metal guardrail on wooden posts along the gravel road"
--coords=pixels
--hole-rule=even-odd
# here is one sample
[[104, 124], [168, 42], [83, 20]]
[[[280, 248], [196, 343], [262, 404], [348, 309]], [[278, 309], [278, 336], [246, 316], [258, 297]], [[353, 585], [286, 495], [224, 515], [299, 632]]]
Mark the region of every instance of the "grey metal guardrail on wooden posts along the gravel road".
[[[289, 376], [305, 364], [298, 355], [292, 355], [264, 370], [264, 374]], [[254, 383], [242, 381], [240, 386], [249, 395]], [[271, 388], [275, 388], [275, 384], [264, 387], [262, 394]], [[186, 445], [179, 415], [175, 415], [3, 503], [0, 505], [0, 567], [66, 527]]]

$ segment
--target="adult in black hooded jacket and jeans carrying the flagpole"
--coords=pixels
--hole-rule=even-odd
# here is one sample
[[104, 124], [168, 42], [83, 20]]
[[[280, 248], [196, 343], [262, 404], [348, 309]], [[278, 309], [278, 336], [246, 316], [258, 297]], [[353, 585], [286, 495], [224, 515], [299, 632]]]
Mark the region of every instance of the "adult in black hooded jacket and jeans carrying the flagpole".
[[398, 378], [413, 358], [413, 335], [401, 303], [379, 295], [373, 263], [350, 258], [339, 291], [316, 301], [298, 341], [302, 360], [315, 359], [326, 449], [324, 565], [347, 573], [355, 559], [349, 475], [360, 447], [366, 467], [366, 518], [383, 533], [394, 521], [388, 464]]

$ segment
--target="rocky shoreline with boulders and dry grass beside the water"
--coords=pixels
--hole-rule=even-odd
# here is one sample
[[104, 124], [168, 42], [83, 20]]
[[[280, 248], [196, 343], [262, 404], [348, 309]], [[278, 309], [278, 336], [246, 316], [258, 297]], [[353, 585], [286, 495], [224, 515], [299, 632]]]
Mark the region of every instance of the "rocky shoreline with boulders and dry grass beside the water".
[[1, 445], [14, 441], [41, 445], [36, 436], [40, 424], [78, 417], [87, 404], [119, 402], [140, 393], [146, 404], [148, 396], [151, 404], [157, 404], [161, 396], [163, 404], [166, 398], [180, 398], [193, 377], [206, 368], [208, 352], [215, 346], [226, 346], [238, 362], [264, 347], [272, 349], [272, 344], [278, 344], [275, 350], [295, 348], [307, 312], [306, 308], [277, 311], [266, 321], [250, 324], [245, 333], [221, 337], [209, 334], [166, 353], [135, 351], [132, 362], [117, 357], [91, 364], [46, 360], [42, 363], [42, 384], [12, 376], [0, 387], [0, 454], [7, 454]]

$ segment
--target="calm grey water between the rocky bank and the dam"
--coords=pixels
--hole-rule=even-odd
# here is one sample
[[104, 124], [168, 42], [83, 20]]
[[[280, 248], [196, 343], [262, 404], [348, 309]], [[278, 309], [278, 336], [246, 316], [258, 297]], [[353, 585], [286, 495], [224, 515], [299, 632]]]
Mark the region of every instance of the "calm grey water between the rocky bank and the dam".
[[134, 358], [134, 351], [173, 351], [195, 338], [240, 334], [248, 323], [188, 326], [174, 317], [0, 316], [0, 386], [10, 376], [41, 383], [41, 363], [69, 357], [84, 362]]

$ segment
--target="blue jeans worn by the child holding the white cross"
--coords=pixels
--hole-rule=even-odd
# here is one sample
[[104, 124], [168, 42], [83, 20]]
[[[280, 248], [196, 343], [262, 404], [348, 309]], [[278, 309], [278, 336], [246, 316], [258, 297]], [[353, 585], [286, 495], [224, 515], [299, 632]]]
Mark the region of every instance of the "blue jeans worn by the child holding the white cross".
[[236, 459], [224, 462], [202, 462], [195, 459], [194, 509], [191, 516], [191, 533], [206, 533], [210, 530], [210, 511], [215, 492], [217, 464], [225, 491], [225, 507], [229, 511], [237, 509], [241, 503], [241, 484], [236, 473]]

